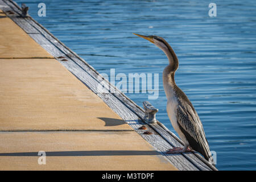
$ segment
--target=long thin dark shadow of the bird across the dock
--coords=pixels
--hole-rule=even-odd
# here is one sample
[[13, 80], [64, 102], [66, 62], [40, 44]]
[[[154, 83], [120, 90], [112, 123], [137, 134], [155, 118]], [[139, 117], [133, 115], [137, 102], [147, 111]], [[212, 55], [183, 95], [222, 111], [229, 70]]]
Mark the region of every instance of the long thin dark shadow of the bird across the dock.
[[[46, 156], [122, 156], [122, 155], [160, 155], [158, 151], [138, 150], [94, 150], [94, 151], [54, 151]], [[0, 153], [0, 156], [39, 156], [38, 152]]]

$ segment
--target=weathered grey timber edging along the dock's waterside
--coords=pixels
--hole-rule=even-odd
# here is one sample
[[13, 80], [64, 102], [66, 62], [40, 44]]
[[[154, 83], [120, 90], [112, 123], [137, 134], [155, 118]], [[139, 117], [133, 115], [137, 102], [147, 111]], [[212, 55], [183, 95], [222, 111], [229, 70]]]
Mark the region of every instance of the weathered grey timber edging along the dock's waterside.
[[[21, 17], [22, 11], [14, 1], [0, 0], [0, 8], [20, 26], [32, 39], [53, 55], [65, 68], [83, 82], [92, 92], [97, 94], [115, 113], [140, 134], [155, 150], [160, 152], [171, 164], [179, 170], [217, 170], [207, 160], [196, 152], [185, 154], [166, 154], [165, 151], [172, 147], [182, 147], [183, 142], [162, 123], [146, 124], [143, 121], [144, 110], [115, 88], [108, 80], [100, 75], [85, 60], [61, 43], [46, 28], [36, 22], [31, 16]], [[10, 13], [10, 11], [12, 13]], [[61, 61], [66, 59], [68, 61]], [[109, 85], [110, 89], [98, 87]], [[110, 90], [115, 90], [114, 93]], [[144, 134], [145, 130], [139, 127], [146, 126], [152, 134]]]

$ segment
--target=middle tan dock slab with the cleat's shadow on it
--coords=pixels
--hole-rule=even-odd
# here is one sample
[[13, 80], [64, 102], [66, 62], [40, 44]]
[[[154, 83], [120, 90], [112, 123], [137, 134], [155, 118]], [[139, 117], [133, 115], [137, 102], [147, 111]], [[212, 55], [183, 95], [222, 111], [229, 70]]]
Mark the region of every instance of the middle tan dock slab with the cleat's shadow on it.
[[55, 59], [0, 65], [0, 131], [134, 131]]

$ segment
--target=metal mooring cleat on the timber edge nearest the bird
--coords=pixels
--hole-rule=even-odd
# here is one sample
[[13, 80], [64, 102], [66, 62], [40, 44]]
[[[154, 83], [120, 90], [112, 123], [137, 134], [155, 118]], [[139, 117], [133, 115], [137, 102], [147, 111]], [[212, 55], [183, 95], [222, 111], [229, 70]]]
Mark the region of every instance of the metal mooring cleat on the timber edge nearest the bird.
[[158, 109], [152, 106], [148, 101], [143, 101], [143, 107], [145, 110], [144, 120], [150, 124], [156, 123], [155, 114], [158, 112]]

